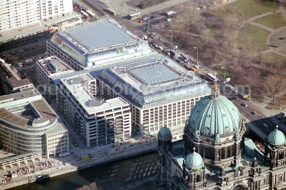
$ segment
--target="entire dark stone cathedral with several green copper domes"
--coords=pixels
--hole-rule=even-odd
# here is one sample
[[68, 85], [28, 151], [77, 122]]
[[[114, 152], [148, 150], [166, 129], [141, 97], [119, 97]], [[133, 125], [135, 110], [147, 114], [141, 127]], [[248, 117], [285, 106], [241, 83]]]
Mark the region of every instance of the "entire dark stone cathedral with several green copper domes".
[[159, 189], [286, 190], [284, 134], [276, 126], [265, 139], [264, 152], [244, 134], [244, 118], [220, 95], [215, 81], [211, 95], [192, 109], [183, 141], [172, 143], [170, 130], [160, 129]]

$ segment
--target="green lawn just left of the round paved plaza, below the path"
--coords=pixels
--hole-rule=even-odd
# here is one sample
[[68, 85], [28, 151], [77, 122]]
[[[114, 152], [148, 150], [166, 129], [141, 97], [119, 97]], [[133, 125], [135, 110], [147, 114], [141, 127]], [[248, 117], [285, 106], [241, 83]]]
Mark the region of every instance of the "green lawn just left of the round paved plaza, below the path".
[[252, 47], [260, 50], [268, 50], [266, 38], [270, 33], [271, 32], [268, 30], [249, 24], [248, 26], [245, 26], [244, 30], [239, 32], [238, 39], [241, 42], [242, 38], [249, 36], [251, 38]]

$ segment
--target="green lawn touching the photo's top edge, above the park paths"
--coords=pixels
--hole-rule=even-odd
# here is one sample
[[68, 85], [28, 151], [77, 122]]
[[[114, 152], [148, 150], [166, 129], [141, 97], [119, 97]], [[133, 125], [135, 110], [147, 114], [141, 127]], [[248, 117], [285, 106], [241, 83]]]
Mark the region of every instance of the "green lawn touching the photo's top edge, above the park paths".
[[224, 11], [233, 11], [237, 8], [239, 10], [239, 19], [249, 19], [259, 13], [278, 9], [277, 0], [275, 1], [275, 7], [273, 0], [266, 0], [265, 2], [261, 2], [259, 0], [238, 0], [223, 6]]

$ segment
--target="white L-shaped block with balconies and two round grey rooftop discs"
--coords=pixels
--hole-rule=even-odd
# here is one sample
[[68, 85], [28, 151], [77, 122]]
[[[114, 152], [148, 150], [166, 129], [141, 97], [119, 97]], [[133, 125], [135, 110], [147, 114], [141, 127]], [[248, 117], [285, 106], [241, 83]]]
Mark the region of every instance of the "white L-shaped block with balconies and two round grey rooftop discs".
[[131, 136], [129, 104], [121, 98], [96, 98], [96, 80], [88, 74], [63, 78], [57, 85], [58, 110], [87, 147]]

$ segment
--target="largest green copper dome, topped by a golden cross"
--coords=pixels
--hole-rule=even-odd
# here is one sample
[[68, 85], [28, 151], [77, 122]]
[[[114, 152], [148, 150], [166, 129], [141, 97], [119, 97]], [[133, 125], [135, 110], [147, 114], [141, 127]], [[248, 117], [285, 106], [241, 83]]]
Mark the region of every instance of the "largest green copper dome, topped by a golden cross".
[[198, 135], [226, 135], [233, 133], [240, 126], [237, 107], [219, 94], [216, 83], [215, 87], [212, 94], [200, 99], [191, 111], [187, 127]]

